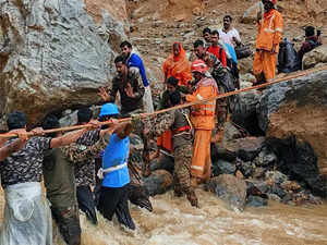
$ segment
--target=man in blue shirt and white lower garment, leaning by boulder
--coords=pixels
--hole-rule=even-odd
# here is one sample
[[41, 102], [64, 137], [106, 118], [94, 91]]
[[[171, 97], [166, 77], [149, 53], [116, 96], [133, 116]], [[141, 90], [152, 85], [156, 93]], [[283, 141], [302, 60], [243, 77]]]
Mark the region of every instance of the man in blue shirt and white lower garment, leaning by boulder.
[[135, 76], [142, 77], [143, 86], [145, 89], [144, 97], [143, 97], [143, 105], [145, 112], [154, 112], [154, 103], [153, 103], [153, 97], [152, 97], [152, 89], [148, 83], [148, 79], [146, 77], [146, 71], [144, 68], [143, 60], [141, 57], [133, 52], [132, 44], [129, 41], [123, 41], [120, 45], [120, 49], [122, 52], [122, 56], [126, 59], [126, 64], [129, 70], [132, 73], [135, 73]]

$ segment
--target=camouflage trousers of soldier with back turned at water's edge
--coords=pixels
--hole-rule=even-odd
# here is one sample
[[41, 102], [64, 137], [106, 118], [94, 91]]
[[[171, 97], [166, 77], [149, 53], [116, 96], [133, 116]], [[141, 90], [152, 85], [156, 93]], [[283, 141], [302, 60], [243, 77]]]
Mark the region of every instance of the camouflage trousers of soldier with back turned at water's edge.
[[191, 163], [192, 163], [192, 145], [183, 145], [174, 148], [174, 189], [189, 194], [191, 187]]

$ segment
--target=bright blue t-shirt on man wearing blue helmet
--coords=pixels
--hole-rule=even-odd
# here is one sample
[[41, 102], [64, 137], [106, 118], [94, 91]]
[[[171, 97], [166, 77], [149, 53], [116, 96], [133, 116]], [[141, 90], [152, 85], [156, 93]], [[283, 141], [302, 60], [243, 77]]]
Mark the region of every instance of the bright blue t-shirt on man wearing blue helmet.
[[[108, 146], [105, 149], [102, 158], [102, 169], [126, 163], [130, 155], [130, 138], [120, 139], [117, 134], [112, 134]], [[129, 168], [105, 174], [102, 186], [105, 187], [122, 187], [130, 183]]]

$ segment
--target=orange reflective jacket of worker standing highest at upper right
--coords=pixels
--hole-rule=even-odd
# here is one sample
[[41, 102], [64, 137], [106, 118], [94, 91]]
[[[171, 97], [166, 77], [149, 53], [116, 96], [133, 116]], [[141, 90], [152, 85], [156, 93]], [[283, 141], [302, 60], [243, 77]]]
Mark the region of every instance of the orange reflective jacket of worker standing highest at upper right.
[[264, 19], [257, 24], [256, 49], [270, 51], [272, 45], [277, 45], [276, 52], [279, 51], [279, 41], [282, 36], [282, 16], [277, 10], [271, 10], [264, 14]]

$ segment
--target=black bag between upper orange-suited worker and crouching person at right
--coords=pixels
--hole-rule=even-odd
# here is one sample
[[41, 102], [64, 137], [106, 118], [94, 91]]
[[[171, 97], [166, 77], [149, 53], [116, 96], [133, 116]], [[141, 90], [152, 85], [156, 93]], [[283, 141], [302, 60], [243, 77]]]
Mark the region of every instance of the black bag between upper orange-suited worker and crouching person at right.
[[300, 70], [300, 62], [294, 49], [294, 44], [288, 41], [287, 38], [280, 42], [277, 68], [279, 73], [290, 73]]

